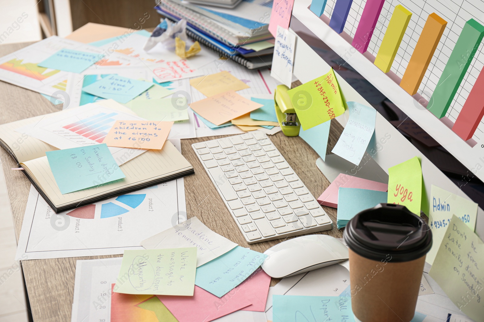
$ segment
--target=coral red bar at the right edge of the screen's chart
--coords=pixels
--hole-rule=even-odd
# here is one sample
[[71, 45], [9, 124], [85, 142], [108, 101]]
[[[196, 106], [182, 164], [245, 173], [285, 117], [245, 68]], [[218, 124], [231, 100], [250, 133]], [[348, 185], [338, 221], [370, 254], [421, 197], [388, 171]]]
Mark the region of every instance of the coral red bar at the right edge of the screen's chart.
[[479, 122], [481, 122], [484, 115], [484, 67], [479, 73], [474, 86], [470, 90], [462, 110], [455, 120], [452, 130], [467, 141], [474, 135]]

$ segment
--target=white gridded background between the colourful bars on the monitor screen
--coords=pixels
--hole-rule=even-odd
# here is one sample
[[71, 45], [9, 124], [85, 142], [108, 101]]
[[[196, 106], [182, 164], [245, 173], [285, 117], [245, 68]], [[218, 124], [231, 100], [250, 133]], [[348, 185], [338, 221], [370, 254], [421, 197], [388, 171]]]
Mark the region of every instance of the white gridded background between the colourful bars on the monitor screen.
[[[328, 0], [324, 9], [324, 14], [330, 18], [333, 14], [335, 2], [336, 0]], [[346, 31], [351, 37], [354, 37], [355, 35], [365, 3], [365, 0], [353, 0], [353, 3], [351, 4], [348, 19], [344, 28], [344, 31]], [[447, 26], [444, 29], [440, 42], [418, 90], [418, 93], [421, 94], [423, 98], [429, 100], [466, 21], [473, 18], [480, 24], [484, 25], [484, 2], [469, 0], [445, 0], [442, 2], [438, 0], [386, 0], [383, 4], [370, 44], [368, 45], [368, 52], [373, 54], [373, 56], [376, 56], [378, 53], [379, 46], [390, 18], [392, 17], [393, 10], [398, 4], [403, 5], [412, 13], [405, 35], [391, 67], [391, 70], [400, 78], [403, 76], [407, 68], [408, 61], [410, 60], [428, 15], [435, 12], [447, 21]], [[454, 100], [446, 113], [446, 116], [452, 122], [455, 122], [457, 119], [477, 76], [484, 66], [483, 43], [484, 42], [481, 42], [479, 45], [469, 69], [455, 94]], [[476, 140], [479, 143], [478, 145], [484, 143], [483, 120], [481, 120], [472, 139]]]

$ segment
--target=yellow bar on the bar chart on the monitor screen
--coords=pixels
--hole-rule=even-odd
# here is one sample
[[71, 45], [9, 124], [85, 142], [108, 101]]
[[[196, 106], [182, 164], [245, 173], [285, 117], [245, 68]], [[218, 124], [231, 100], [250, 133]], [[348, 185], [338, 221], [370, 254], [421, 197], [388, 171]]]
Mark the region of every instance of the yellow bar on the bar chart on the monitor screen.
[[400, 42], [402, 42], [403, 35], [407, 29], [408, 22], [412, 13], [409, 12], [401, 4], [393, 10], [392, 18], [388, 23], [387, 30], [381, 41], [380, 49], [378, 49], [377, 57], [375, 58], [375, 66], [381, 71], [387, 73], [393, 64]]

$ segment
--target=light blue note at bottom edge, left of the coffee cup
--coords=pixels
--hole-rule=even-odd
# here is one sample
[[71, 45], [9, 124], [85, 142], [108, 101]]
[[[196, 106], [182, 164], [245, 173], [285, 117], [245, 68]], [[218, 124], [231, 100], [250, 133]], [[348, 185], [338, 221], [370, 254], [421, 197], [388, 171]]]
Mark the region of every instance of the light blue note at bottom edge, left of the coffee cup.
[[272, 295], [272, 321], [355, 322], [348, 296]]

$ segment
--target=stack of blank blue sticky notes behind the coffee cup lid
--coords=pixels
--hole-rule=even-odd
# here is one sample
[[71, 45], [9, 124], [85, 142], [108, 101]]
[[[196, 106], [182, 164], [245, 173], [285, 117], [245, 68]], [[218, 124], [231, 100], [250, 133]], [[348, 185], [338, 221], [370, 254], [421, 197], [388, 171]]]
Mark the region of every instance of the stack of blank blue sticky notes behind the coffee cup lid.
[[357, 213], [387, 202], [387, 192], [358, 188], [338, 189], [338, 229], [345, 227]]

